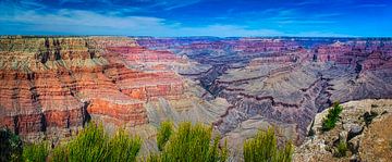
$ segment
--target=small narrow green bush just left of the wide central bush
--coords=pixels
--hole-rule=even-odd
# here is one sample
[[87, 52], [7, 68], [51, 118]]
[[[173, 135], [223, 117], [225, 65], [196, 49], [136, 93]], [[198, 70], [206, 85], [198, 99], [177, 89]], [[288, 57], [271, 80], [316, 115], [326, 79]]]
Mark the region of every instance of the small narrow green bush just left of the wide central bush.
[[159, 151], [163, 150], [163, 147], [169, 140], [169, 137], [171, 136], [172, 132], [173, 132], [173, 123], [169, 121], [161, 123], [157, 134], [157, 145]]

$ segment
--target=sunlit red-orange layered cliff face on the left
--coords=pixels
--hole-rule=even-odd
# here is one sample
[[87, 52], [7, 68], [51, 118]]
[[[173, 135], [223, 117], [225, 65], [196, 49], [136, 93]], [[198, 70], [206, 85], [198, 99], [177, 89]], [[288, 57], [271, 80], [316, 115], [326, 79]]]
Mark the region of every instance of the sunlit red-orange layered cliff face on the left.
[[184, 92], [173, 71], [128, 67], [130, 62], [179, 60], [136, 47], [130, 38], [0, 41], [0, 125], [27, 140], [68, 137], [90, 117], [114, 125], [147, 124], [147, 100], [181, 98]]

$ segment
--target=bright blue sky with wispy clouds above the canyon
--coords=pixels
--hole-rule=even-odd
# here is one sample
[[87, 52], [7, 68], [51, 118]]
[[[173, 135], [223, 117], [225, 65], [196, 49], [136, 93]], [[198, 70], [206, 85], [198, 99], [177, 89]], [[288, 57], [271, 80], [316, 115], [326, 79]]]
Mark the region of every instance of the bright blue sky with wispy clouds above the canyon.
[[392, 1], [0, 0], [0, 35], [392, 37]]

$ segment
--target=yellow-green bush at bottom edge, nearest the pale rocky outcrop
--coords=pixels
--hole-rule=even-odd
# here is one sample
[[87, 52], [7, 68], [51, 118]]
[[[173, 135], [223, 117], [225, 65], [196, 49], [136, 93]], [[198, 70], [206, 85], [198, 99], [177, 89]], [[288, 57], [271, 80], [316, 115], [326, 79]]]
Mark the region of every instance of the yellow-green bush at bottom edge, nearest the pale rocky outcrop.
[[259, 130], [255, 138], [244, 142], [245, 162], [290, 162], [293, 154], [293, 145], [286, 142], [284, 148], [279, 149], [273, 128], [267, 132]]

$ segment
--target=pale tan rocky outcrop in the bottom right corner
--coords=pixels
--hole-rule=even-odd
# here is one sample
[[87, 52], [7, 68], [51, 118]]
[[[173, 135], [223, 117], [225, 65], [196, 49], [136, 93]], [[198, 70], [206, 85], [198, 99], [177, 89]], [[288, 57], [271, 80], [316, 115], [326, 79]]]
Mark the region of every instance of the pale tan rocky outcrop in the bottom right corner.
[[[308, 127], [314, 135], [295, 149], [294, 161], [388, 161], [392, 158], [391, 128], [388, 127], [392, 120], [392, 101], [368, 99], [342, 105], [341, 117], [329, 132], [321, 130], [328, 110], [316, 115]], [[339, 142], [347, 147], [343, 157], [336, 155]]]

